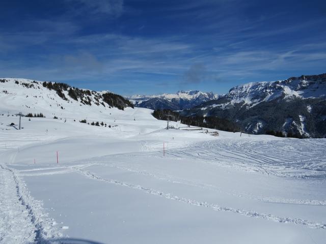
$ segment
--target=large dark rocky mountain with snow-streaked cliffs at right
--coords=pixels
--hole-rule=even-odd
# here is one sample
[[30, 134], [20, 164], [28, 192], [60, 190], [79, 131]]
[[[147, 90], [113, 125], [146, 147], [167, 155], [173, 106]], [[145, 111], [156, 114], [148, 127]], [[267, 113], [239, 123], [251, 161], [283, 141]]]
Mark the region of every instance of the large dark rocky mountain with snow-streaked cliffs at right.
[[235, 86], [216, 101], [182, 112], [236, 121], [244, 131], [326, 136], [326, 74]]

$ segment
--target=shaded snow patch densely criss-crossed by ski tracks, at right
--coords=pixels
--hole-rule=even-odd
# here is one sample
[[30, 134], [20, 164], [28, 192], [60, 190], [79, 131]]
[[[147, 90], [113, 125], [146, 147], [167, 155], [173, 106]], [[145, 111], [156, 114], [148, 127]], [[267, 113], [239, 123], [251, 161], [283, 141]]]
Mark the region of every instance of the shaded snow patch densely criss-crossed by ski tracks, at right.
[[326, 178], [326, 154], [321, 154], [322, 151], [326, 151], [326, 145], [318, 139], [298, 139], [293, 144], [286, 139], [216, 140], [167, 151], [166, 154], [281, 177]]

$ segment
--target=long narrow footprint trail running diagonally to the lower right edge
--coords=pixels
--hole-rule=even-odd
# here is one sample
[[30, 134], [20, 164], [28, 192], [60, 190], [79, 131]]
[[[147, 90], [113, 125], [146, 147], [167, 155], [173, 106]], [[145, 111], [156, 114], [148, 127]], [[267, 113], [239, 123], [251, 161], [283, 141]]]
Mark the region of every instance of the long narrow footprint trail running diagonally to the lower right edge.
[[145, 188], [145, 187], [142, 187], [139, 185], [129, 184], [127, 182], [123, 182], [120, 180], [105, 179], [105, 178], [102, 178], [100, 176], [93, 174], [90, 171], [83, 170], [80, 168], [76, 168], [76, 170], [79, 173], [81, 173], [91, 179], [104, 181], [104, 182], [107, 182], [110, 184], [114, 184], [114, 185], [118, 185], [118, 186], [122, 186], [122, 187], [128, 187], [128, 188], [135, 189], [135, 190], [140, 190], [140, 191], [146, 192], [151, 195], [164, 197], [166, 199], [175, 200], [178, 202], [183, 202], [183, 203], [194, 205], [194, 206], [211, 208], [215, 211], [227, 211], [227, 212], [233, 212], [235, 214], [240, 214], [240, 215], [247, 216], [247, 217], [271, 220], [271, 221], [275, 221], [275, 222], [279, 222], [279, 223], [291, 223], [291, 224], [297, 224], [297, 225], [304, 225], [304, 226], [307, 226], [310, 228], [315, 228], [315, 229], [326, 229], [326, 224], [324, 224], [324, 223], [317, 223], [317, 222], [313, 222], [313, 221], [309, 221], [309, 220], [293, 219], [293, 218], [288, 218], [288, 217], [279, 217], [279, 216], [274, 216], [274, 215], [270, 215], [270, 214], [260, 214], [259, 212], [256, 212], [256, 211], [246, 211], [243, 209], [237, 209], [237, 208], [232, 208], [232, 207], [222, 207], [222, 206], [219, 206], [218, 204], [199, 202], [196, 200], [173, 196], [169, 193], [164, 193], [164, 192], [157, 191], [157, 190], [154, 190], [151, 188]]

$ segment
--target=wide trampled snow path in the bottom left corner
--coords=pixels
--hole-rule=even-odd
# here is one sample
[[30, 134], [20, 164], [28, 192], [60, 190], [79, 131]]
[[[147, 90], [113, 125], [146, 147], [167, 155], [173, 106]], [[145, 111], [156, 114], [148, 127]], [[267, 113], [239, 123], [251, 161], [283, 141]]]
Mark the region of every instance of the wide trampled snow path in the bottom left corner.
[[0, 177], [4, 184], [0, 188], [1, 243], [47, 243], [46, 239], [61, 236], [14, 170], [0, 165]]

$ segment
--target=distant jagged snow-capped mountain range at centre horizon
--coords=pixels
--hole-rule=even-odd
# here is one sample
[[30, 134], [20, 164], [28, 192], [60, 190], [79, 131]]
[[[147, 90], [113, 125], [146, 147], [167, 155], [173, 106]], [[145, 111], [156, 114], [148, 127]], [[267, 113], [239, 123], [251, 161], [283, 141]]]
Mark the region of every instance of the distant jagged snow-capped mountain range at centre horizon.
[[150, 109], [181, 110], [192, 108], [207, 101], [216, 100], [219, 95], [199, 90], [179, 90], [176, 94], [133, 95], [128, 99], [137, 107]]

